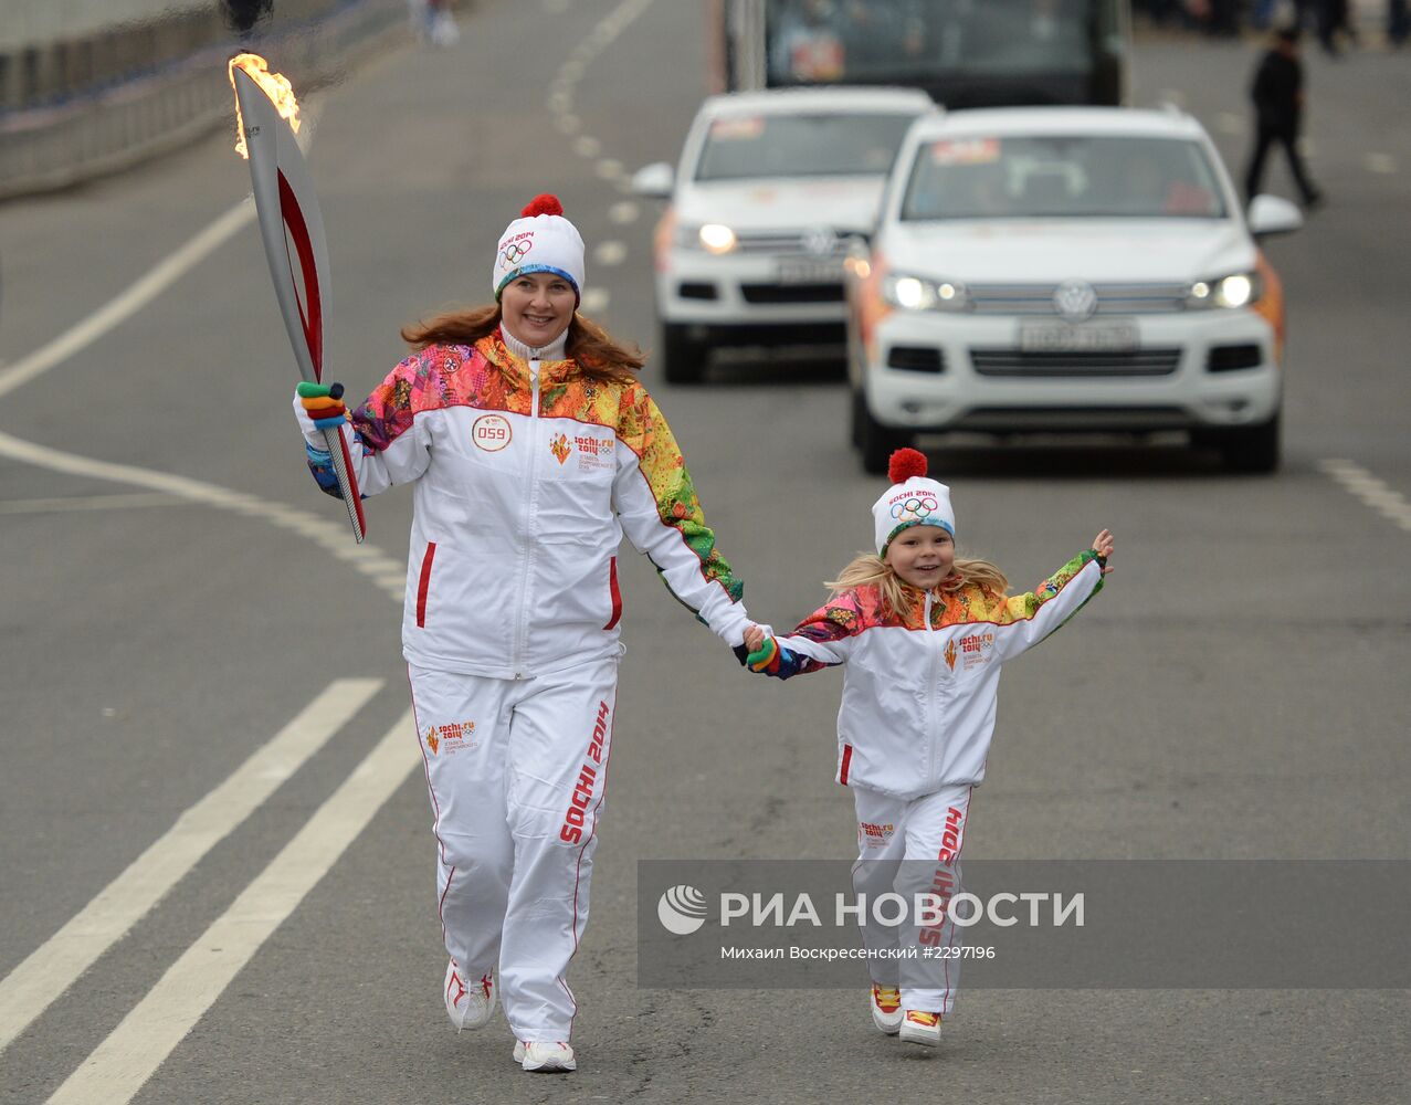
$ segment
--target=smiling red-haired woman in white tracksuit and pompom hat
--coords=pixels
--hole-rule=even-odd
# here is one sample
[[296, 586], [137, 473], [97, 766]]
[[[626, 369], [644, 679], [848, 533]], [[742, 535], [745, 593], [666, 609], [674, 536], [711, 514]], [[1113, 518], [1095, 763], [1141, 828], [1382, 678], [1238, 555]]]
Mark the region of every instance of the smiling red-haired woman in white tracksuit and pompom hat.
[[564, 974], [612, 751], [622, 535], [728, 645], [748, 624], [641, 356], [577, 315], [583, 279], [583, 238], [539, 196], [499, 238], [495, 303], [404, 330], [416, 351], [351, 422], [330, 395], [295, 399], [325, 491], [327, 425], [364, 495], [413, 484], [402, 653], [446, 1012], [480, 1027], [502, 999], [525, 1070], [576, 1067]]

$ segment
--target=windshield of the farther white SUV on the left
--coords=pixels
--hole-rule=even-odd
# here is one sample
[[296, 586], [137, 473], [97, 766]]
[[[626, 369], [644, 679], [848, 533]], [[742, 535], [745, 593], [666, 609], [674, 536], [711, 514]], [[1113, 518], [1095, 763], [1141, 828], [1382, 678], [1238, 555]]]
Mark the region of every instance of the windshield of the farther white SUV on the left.
[[910, 123], [879, 111], [727, 116], [710, 126], [696, 179], [882, 175]]

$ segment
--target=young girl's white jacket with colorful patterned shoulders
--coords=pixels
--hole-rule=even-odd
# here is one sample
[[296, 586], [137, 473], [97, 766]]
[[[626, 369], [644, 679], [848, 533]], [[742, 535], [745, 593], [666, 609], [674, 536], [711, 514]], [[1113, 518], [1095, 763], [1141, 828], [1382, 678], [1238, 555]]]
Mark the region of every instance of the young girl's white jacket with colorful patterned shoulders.
[[995, 734], [999, 670], [1071, 618], [1102, 587], [1092, 550], [1036, 590], [1009, 597], [969, 586], [886, 610], [875, 587], [840, 593], [779, 636], [769, 675], [845, 665], [838, 775], [902, 799], [978, 783]]

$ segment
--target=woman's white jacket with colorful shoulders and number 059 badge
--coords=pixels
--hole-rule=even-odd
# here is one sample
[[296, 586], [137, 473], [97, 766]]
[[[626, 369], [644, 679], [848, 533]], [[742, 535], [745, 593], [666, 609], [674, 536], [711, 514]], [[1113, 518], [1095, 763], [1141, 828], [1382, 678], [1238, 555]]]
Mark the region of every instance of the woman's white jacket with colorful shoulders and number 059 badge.
[[[402, 653], [519, 679], [621, 653], [626, 533], [728, 645], [748, 624], [662, 412], [632, 382], [531, 363], [501, 334], [429, 346], [343, 426], [363, 497], [412, 484]], [[298, 401], [296, 412], [301, 412]], [[312, 422], [301, 418], [306, 440]], [[319, 485], [337, 495], [327, 453]]]

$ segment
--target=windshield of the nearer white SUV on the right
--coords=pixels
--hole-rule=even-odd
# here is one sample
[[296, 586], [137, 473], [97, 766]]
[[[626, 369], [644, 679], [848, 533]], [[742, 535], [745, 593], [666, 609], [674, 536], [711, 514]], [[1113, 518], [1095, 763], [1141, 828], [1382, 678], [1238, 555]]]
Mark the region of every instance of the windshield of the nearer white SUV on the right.
[[975, 135], [923, 143], [903, 220], [1222, 219], [1205, 148], [1187, 138]]

